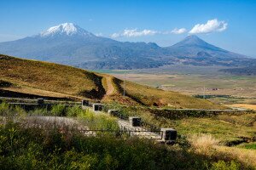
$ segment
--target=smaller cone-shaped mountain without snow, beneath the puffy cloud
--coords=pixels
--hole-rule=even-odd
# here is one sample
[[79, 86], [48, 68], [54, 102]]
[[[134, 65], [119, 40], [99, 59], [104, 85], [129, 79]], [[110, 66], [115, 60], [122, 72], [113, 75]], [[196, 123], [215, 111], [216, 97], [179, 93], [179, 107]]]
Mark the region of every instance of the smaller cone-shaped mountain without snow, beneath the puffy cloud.
[[256, 63], [256, 59], [218, 48], [195, 35], [184, 38], [166, 50], [173, 57], [183, 59], [183, 64], [238, 66], [250, 65], [249, 61]]

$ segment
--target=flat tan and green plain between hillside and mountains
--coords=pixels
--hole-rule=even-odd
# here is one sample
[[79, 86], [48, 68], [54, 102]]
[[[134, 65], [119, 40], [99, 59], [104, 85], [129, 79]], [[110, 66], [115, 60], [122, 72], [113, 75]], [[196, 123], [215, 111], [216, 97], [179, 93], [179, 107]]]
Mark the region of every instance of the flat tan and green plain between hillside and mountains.
[[101, 71], [151, 87], [189, 95], [208, 95], [218, 104], [256, 104], [256, 77], [234, 76], [222, 66], [166, 65], [154, 69]]

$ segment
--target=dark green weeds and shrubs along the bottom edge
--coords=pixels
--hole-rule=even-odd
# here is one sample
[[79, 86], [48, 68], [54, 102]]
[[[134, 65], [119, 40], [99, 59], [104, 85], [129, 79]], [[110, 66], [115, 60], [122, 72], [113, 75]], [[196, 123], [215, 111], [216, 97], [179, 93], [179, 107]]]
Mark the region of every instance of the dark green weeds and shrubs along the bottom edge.
[[0, 127], [1, 169], [232, 169], [239, 161], [218, 161], [144, 139], [85, 137], [9, 122]]

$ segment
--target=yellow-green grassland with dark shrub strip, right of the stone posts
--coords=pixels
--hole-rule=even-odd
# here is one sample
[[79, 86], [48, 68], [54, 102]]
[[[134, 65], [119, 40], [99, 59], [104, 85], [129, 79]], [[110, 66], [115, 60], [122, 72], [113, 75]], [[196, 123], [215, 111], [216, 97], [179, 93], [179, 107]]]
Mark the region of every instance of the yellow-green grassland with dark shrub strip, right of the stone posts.
[[118, 104], [107, 106], [119, 111], [120, 116], [140, 116], [144, 122], [155, 127], [173, 127], [177, 132], [189, 135], [210, 133], [222, 144], [240, 144], [251, 141], [256, 133], [255, 111], [209, 112], [169, 111], [148, 107], [125, 107]]

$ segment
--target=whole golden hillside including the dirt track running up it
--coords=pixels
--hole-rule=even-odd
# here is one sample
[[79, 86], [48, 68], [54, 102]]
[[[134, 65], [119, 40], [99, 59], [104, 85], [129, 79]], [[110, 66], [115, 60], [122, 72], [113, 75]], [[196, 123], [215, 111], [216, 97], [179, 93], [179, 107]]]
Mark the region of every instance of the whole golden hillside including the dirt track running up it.
[[[117, 101], [125, 105], [172, 108], [223, 108], [203, 99], [126, 82], [67, 65], [0, 55], [0, 93]], [[1, 91], [2, 90], [2, 91]]]

